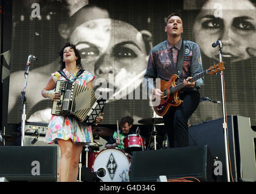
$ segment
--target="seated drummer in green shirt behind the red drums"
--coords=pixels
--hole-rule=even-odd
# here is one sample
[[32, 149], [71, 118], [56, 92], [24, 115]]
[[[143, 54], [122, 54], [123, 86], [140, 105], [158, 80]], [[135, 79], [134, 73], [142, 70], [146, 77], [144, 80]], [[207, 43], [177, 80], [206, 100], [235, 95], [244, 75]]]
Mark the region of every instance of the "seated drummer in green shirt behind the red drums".
[[115, 147], [120, 150], [125, 150], [125, 146], [123, 143], [123, 139], [131, 134], [136, 134], [131, 130], [131, 127], [133, 126], [133, 118], [131, 116], [125, 116], [123, 117], [120, 122], [119, 126], [122, 130], [119, 130], [119, 136], [117, 135], [117, 131], [114, 132], [112, 136], [109, 136], [108, 142], [106, 142], [106, 148], [109, 147]]

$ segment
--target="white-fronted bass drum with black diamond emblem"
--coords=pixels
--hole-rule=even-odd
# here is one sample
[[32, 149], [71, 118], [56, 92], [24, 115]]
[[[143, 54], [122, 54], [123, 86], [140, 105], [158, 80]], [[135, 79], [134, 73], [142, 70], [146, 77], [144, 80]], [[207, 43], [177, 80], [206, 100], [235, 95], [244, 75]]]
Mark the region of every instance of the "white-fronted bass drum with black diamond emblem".
[[116, 148], [102, 150], [95, 158], [92, 170], [103, 182], [122, 182], [123, 170], [130, 171], [128, 154]]

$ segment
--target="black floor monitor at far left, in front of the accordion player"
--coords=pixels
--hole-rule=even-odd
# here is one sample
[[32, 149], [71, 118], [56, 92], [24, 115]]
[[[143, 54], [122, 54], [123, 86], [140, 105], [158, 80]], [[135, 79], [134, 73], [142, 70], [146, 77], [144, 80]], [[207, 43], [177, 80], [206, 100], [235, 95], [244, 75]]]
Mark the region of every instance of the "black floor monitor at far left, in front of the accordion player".
[[57, 181], [57, 146], [1, 146], [0, 177], [9, 181]]

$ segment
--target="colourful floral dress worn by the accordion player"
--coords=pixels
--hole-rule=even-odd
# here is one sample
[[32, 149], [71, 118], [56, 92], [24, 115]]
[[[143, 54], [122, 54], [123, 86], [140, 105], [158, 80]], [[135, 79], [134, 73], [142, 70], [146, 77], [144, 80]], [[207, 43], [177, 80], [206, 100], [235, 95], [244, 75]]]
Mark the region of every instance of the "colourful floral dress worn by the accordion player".
[[[66, 69], [63, 69], [63, 72], [71, 81], [74, 80], [75, 73], [69, 73]], [[52, 78], [54, 82], [66, 81], [58, 72], [52, 73]], [[85, 70], [75, 82], [86, 87], [86, 83], [92, 81], [94, 78], [94, 75]], [[44, 141], [51, 144], [56, 139], [71, 139], [73, 144], [86, 144], [93, 142], [92, 129], [91, 126], [86, 126], [78, 122], [73, 116], [52, 115]]]

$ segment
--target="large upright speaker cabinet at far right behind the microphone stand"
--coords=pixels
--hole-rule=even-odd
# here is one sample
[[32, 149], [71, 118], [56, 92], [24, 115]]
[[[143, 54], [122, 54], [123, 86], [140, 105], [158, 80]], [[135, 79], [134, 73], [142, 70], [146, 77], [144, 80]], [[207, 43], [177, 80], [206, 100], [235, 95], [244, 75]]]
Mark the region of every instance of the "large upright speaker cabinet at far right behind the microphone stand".
[[[230, 181], [256, 181], [256, 132], [250, 118], [227, 116], [230, 162]], [[212, 156], [222, 164], [220, 181], [227, 181], [227, 164], [224, 143], [223, 118], [202, 122], [189, 127], [190, 146], [208, 145]], [[231, 176], [232, 175], [232, 176]]]

